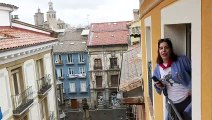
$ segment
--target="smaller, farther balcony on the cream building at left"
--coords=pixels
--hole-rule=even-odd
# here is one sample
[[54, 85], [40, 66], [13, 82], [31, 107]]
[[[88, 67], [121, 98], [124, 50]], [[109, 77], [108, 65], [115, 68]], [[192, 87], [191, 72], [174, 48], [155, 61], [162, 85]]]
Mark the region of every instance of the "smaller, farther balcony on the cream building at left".
[[43, 77], [37, 80], [38, 85], [38, 95], [43, 96], [51, 89], [51, 79], [50, 76]]

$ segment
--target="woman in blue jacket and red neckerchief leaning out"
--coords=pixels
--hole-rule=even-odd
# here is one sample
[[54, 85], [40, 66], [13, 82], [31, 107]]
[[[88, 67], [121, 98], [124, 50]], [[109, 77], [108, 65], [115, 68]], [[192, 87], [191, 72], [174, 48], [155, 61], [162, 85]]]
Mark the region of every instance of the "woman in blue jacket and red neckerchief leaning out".
[[191, 62], [186, 56], [177, 56], [174, 53], [169, 38], [158, 41], [154, 77], [159, 80], [154, 83], [156, 91], [159, 94], [163, 91], [184, 120], [191, 119]]

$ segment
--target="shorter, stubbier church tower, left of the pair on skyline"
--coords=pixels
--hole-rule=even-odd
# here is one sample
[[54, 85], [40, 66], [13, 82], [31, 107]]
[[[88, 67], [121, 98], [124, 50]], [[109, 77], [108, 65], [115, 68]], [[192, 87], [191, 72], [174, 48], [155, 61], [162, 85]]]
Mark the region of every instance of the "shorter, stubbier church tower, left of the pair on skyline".
[[38, 12], [34, 15], [35, 25], [43, 27], [44, 25], [44, 15], [41, 13], [40, 8], [38, 8]]

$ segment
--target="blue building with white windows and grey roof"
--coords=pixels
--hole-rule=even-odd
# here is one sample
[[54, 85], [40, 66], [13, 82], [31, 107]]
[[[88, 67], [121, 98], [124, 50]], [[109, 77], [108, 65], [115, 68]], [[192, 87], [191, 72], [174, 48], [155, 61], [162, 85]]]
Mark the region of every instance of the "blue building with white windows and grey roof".
[[56, 79], [63, 83], [64, 100], [70, 101], [72, 109], [90, 97], [87, 33], [82, 28], [67, 31], [53, 48]]

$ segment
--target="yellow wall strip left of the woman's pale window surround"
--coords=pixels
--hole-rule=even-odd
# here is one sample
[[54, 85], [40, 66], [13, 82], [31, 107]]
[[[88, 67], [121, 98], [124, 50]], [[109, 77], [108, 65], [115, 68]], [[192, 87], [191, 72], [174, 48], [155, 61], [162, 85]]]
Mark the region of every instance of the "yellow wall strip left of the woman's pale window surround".
[[[166, 0], [161, 2], [159, 5], [154, 7], [150, 12], [148, 13], [141, 13], [145, 14], [141, 19], [141, 36], [142, 36], [142, 75], [144, 79], [144, 98], [145, 98], [145, 110], [146, 110], [146, 120], [150, 120], [149, 114], [151, 110], [151, 105], [149, 104], [148, 99], [148, 79], [147, 79], [147, 63], [146, 63], [146, 41], [145, 41], [145, 26], [144, 26], [144, 20], [145, 18], [151, 16], [151, 30], [152, 30], [152, 69], [156, 66], [156, 58], [157, 58], [157, 42], [161, 38], [161, 18], [160, 18], [160, 10], [170, 5], [176, 0]], [[150, 4], [153, 4], [152, 2], [148, 1], [145, 4], [141, 6], [142, 11], [145, 11], [145, 8], [148, 8]], [[154, 89], [154, 88], [153, 88]], [[150, 106], [149, 106], [150, 105]], [[157, 111], [153, 113], [155, 116], [155, 120], [162, 120], [164, 118], [163, 116], [163, 98], [162, 95], [158, 95], [154, 89], [154, 111]], [[152, 117], [153, 118], [153, 117]]]

